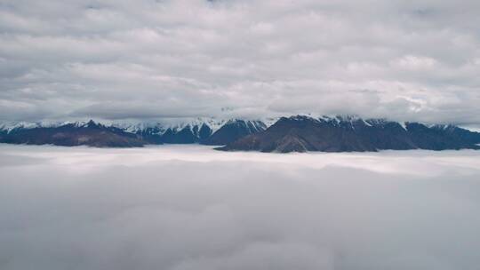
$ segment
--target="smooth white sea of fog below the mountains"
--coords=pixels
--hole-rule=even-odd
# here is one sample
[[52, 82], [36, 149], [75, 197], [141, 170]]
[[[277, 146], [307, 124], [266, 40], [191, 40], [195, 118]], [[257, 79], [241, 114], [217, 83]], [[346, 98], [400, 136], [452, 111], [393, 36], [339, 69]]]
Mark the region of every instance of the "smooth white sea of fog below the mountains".
[[480, 152], [0, 145], [0, 268], [477, 269]]

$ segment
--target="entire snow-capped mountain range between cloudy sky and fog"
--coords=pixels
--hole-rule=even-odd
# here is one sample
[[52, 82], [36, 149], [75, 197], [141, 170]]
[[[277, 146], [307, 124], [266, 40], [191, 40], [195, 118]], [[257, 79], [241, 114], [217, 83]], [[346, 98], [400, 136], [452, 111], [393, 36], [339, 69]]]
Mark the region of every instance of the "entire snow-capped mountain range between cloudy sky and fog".
[[454, 125], [398, 123], [351, 115], [183, 122], [0, 123], [0, 142], [31, 145], [142, 147], [222, 146], [225, 151], [364, 152], [385, 149], [480, 149], [480, 133]]

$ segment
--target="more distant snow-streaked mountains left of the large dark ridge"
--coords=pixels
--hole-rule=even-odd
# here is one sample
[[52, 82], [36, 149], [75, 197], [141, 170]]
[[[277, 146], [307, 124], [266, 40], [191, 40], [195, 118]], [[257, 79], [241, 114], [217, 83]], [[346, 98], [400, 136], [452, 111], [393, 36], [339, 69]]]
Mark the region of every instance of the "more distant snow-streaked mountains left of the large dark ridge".
[[192, 119], [182, 122], [3, 123], [0, 142], [59, 146], [138, 147], [146, 144], [226, 145], [264, 131], [261, 121]]

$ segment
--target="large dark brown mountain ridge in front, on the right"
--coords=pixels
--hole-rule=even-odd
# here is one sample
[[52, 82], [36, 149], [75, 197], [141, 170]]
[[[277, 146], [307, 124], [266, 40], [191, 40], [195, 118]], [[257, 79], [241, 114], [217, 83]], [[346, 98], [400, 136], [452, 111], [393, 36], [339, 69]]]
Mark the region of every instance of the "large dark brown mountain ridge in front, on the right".
[[229, 143], [220, 150], [260, 152], [366, 152], [408, 149], [480, 149], [480, 133], [452, 125], [364, 121], [353, 116], [282, 117], [266, 131]]

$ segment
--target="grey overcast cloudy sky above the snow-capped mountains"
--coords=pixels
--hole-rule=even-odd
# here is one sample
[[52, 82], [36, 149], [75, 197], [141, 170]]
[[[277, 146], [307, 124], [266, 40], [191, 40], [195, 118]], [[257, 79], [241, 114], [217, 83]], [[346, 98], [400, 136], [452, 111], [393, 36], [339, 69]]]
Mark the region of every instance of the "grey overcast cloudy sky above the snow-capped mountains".
[[0, 121], [480, 123], [477, 0], [0, 0]]

